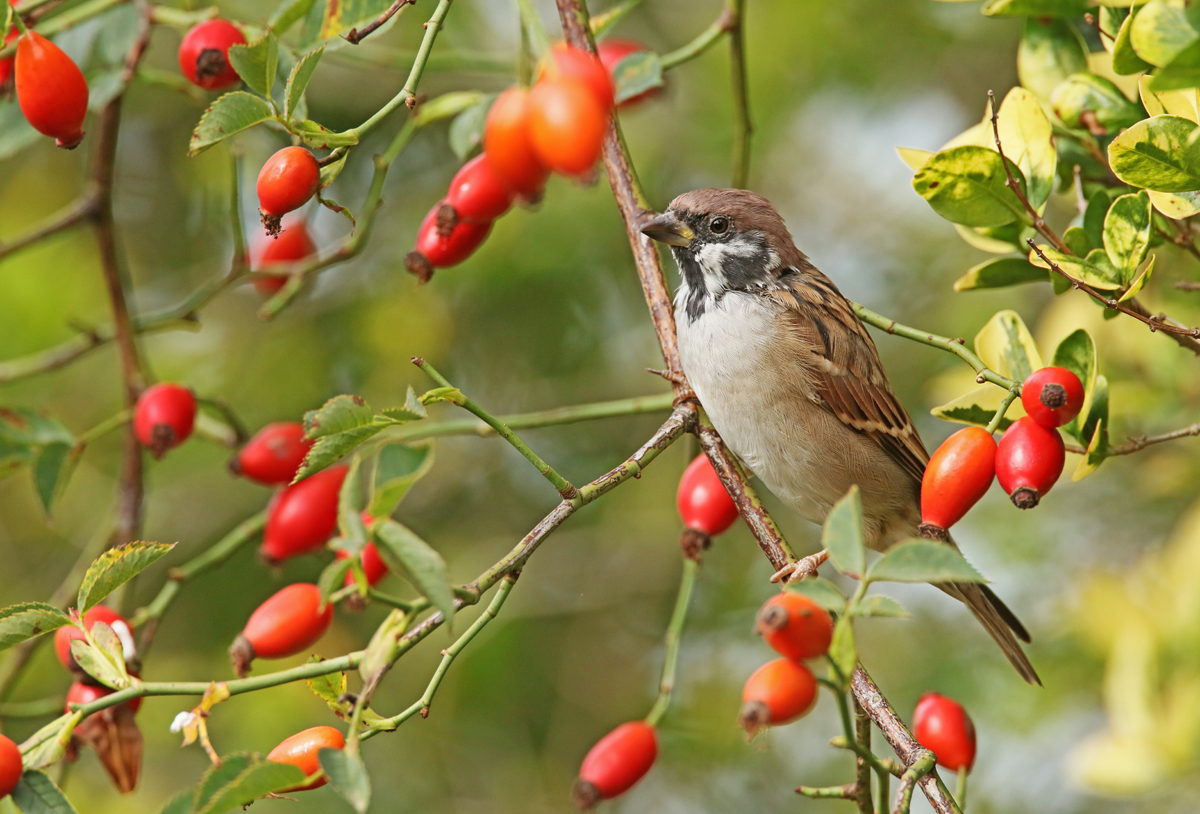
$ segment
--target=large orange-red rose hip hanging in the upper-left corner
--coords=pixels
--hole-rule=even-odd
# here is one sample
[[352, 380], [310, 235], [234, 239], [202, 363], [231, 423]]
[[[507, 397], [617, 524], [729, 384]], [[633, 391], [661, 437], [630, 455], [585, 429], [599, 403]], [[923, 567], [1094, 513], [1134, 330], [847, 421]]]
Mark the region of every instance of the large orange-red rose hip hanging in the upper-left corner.
[[17, 103], [25, 120], [67, 150], [83, 140], [88, 80], [62, 49], [37, 31], [17, 41]]

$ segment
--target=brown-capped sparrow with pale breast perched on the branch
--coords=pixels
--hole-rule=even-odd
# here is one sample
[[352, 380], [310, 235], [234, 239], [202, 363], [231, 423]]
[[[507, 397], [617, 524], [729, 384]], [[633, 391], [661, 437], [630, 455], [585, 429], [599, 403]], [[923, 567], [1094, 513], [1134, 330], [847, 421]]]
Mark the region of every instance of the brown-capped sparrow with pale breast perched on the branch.
[[[748, 190], [695, 190], [641, 227], [679, 267], [683, 373], [730, 449], [809, 521], [823, 523], [857, 484], [869, 547], [918, 537], [929, 453], [865, 325], [772, 203]], [[991, 588], [937, 587], [1040, 686], [1020, 645], [1028, 632]]]

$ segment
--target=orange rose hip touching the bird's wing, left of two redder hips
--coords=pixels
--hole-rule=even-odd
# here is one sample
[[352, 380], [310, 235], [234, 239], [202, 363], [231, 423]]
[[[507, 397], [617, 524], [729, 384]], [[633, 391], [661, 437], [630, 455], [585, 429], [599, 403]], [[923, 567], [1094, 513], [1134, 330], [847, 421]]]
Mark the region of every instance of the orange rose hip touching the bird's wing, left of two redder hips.
[[959, 430], [925, 466], [920, 481], [922, 523], [949, 528], [979, 502], [995, 478], [996, 439], [983, 427]]

